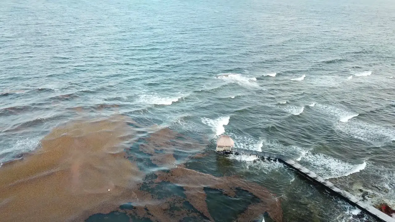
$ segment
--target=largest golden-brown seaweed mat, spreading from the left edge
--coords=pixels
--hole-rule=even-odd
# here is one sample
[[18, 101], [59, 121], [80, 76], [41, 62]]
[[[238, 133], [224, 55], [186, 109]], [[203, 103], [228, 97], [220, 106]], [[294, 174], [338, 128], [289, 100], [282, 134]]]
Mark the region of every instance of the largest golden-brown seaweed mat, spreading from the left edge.
[[1, 220], [78, 221], [138, 201], [143, 173], [120, 145], [133, 133], [121, 116], [53, 129], [36, 152], [0, 168]]

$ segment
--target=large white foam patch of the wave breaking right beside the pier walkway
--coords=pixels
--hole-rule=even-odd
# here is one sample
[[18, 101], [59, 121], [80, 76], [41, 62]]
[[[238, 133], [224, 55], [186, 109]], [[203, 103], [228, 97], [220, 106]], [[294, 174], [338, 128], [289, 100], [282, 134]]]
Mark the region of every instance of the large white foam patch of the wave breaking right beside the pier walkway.
[[313, 154], [311, 151], [301, 156], [299, 161], [324, 178], [348, 176], [366, 167], [366, 162], [353, 165], [325, 154]]

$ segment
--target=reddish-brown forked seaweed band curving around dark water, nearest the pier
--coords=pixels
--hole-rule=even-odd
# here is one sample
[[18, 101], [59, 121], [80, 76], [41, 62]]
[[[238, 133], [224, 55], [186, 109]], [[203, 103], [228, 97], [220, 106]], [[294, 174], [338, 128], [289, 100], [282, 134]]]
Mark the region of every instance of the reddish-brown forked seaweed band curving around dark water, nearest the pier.
[[182, 166], [172, 169], [169, 173], [157, 172], [156, 175], [158, 176], [156, 182], [167, 181], [182, 186], [186, 190], [187, 200], [211, 220], [213, 219], [209, 214], [207, 203], [205, 202], [206, 194], [203, 191], [203, 187], [221, 190], [224, 194], [232, 197], [236, 194], [236, 188], [241, 188], [259, 198], [260, 203], [250, 205], [239, 216], [239, 221], [250, 221], [251, 218], [255, 219], [265, 211], [269, 213], [274, 221], [282, 221], [283, 216], [280, 201], [266, 188], [252, 182], [244, 181], [239, 177], [214, 177], [213, 175], [186, 169]]

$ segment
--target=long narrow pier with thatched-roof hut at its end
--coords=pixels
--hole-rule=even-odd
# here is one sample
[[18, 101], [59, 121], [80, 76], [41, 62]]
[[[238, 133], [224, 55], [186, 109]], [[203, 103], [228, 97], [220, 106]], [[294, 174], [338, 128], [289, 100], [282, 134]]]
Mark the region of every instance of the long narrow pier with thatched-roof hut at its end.
[[[229, 139], [231, 139], [231, 141], [228, 139], [220, 139], [220, 138], [224, 138], [224, 137], [221, 136], [217, 140], [217, 142], [218, 141], [222, 142], [221, 143], [222, 146], [220, 146], [220, 147], [218, 147], [218, 143], [217, 143], [217, 152], [222, 152], [223, 154], [255, 155], [255, 156], [257, 156], [257, 158], [260, 158], [260, 159], [278, 160], [279, 162], [282, 162], [286, 166], [288, 166], [292, 169], [295, 169], [298, 173], [300, 173], [307, 179], [324, 186], [324, 188], [326, 188], [331, 193], [338, 195], [342, 199], [348, 201], [351, 205], [354, 205], [354, 206], [358, 207], [359, 209], [361, 209], [362, 211], [365, 211], [367, 214], [371, 215], [372, 217], [376, 218], [377, 220], [379, 220], [381, 222], [395, 222], [394, 218], [392, 218], [391, 216], [388, 216], [387, 214], [385, 214], [385, 213], [379, 211], [378, 209], [372, 207], [371, 205], [365, 203], [364, 201], [362, 201], [361, 198], [357, 198], [354, 195], [350, 194], [349, 192], [346, 192], [346, 191], [338, 188], [337, 186], [335, 186], [335, 184], [333, 184], [329, 181], [326, 181], [324, 178], [320, 177], [316, 173], [310, 171], [306, 167], [301, 166], [297, 162], [295, 162], [289, 158], [286, 158], [283, 155], [273, 154], [270, 152], [259, 152], [259, 151], [245, 150], [245, 149], [237, 149], [237, 148], [233, 147], [233, 140], [230, 137], [229, 137]], [[226, 146], [226, 144], [224, 144], [224, 142], [226, 142], [226, 141], [228, 141], [227, 144], [231, 145], [231, 146]]]

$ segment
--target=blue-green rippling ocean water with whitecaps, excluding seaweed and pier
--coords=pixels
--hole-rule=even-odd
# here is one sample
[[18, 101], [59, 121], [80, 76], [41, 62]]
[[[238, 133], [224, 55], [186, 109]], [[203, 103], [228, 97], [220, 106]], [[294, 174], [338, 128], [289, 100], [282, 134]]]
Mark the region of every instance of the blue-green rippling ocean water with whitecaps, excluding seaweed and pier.
[[[139, 125], [135, 140], [126, 139], [137, 165], [150, 157], [134, 143], [168, 128], [207, 153], [174, 155], [172, 167], [259, 184], [281, 201], [284, 221], [374, 221], [282, 164], [218, 156], [214, 144], [227, 134], [237, 148], [284, 154], [355, 196], [369, 192], [372, 205], [394, 208], [394, 11], [392, 0], [2, 0], [0, 177], [6, 163], [51, 150], [48, 135], [62, 137], [54, 128], [120, 115]], [[139, 167], [172, 168], [147, 166]], [[241, 205], [221, 208], [226, 201], [215, 192], [205, 190], [212, 218], [192, 205], [203, 219], [235, 220], [215, 212]], [[0, 198], [1, 209], [9, 196]], [[134, 218], [94, 209], [114, 221]]]

